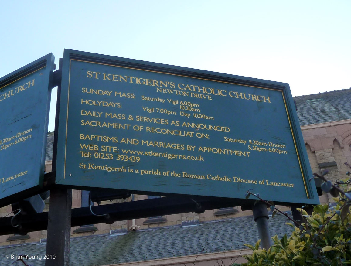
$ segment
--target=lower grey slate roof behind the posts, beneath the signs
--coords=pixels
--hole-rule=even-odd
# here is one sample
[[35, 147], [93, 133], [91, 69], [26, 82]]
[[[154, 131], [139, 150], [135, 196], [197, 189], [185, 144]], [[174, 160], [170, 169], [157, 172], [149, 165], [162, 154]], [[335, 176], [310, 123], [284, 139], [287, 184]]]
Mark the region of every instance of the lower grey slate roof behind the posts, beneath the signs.
[[[285, 216], [276, 215], [269, 220], [271, 236], [292, 228], [284, 225]], [[202, 222], [196, 226], [169, 226], [137, 230], [124, 235], [91, 235], [71, 238], [69, 265], [95, 266], [123, 262], [172, 258], [184, 255], [241, 250], [244, 243], [255, 244], [258, 231], [253, 216]], [[207, 243], [207, 244], [206, 244]], [[246, 247], [245, 247], [246, 248]], [[45, 254], [46, 244], [28, 243], [0, 247], [0, 266], [11, 265], [14, 260], [6, 254]], [[44, 260], [26, 261], [33, 266], [44, 266]]]

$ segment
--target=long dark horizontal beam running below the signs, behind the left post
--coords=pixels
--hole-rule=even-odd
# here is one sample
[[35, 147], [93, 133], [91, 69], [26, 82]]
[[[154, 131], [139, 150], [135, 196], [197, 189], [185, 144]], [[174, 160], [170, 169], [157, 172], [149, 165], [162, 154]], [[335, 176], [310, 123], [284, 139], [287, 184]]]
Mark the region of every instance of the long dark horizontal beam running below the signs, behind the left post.
[[[57, 188], [51, 191], [59, 190]], [[51, 192], [52, 193], [52, 192]], [[52, 200], [50, 195], [50, 200]], [[201, 205], [201, 210], [197, 204]], [[227, 198], [211, 197], [164, 197], [157, 199], [137, 200], [92, 206], [95, 214], [106, 214], [110, 216], [108, 221], [123, 221], [160, 215], [169, 215], [184, 212], [203, 212], [217, 208], [240, 206], [240, 201]], [[68, 208], [68, 207], [67, 207]], [[49, 210], [53, 210], [51, 201]], [[71, 213], [71, 209], [69, 210]], [[64, 211], [58, 211], [57, 215], [64, 215]], [[17, 234], [18, 228], [11, 225], [12, 217], [0, 218], [0, 235]], [[68, 219], [68, 218], [67, 218]], [[90, 207], [72, 209], [71, 226], [106, 223], [106, 215], [96, 216], [90, 211]], [[16, 220], [26, 232], [41, 231], [48, 229], [48, 212], [32, 215], [22, 215]], [[49, 231], [48, 231], [49, 234]], [[56, 241], [56, 240], [55, 240]], [[54, 241], [54, 242], [55, 242]]]

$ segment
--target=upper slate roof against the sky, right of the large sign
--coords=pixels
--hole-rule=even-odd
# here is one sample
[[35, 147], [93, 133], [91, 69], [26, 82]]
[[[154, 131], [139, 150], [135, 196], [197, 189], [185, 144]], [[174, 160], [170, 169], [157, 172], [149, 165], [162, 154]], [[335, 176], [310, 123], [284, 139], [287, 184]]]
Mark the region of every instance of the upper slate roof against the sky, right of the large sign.
[[301, 126], [351, 119], [351, 88], [293, 99]]

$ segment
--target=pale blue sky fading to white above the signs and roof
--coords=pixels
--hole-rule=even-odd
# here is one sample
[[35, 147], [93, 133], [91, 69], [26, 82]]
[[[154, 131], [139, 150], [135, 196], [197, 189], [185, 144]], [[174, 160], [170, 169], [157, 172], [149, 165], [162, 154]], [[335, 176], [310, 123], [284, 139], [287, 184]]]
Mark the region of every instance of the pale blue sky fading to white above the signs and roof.
[[69, 48], [286, 82], [293, 96], [346, 89], [350, 14], [349, 0], [2, 1], [0, 77]]

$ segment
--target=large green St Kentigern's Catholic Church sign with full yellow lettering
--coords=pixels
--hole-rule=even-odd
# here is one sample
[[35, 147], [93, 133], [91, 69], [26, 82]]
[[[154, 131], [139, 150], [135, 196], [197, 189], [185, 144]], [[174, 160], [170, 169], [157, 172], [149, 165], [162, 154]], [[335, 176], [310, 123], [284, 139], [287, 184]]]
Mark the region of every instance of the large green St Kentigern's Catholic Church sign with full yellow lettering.
[[57, 184], [317, 204], [289, 85], [65, 49]]

